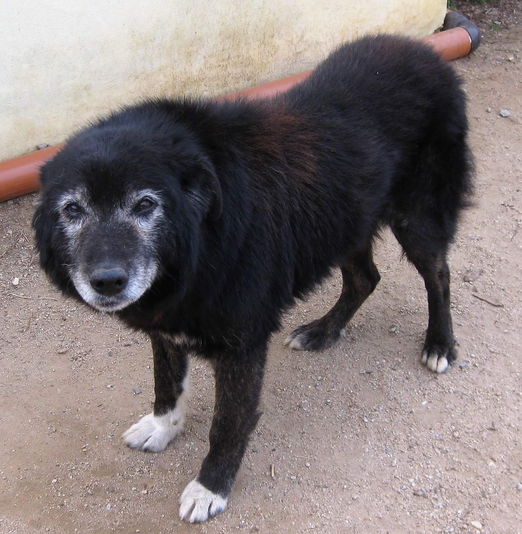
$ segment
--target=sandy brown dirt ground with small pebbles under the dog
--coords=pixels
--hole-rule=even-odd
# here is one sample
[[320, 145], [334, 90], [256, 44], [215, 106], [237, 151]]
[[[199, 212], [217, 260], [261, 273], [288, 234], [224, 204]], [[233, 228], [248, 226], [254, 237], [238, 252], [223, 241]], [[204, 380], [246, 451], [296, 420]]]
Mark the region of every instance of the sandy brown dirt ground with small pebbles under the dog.
[[460, 365], [421, 365], [424, 287], [385, 234], [381, 284], [344, 341], [321, 354], [282, 344], [334, 304], [338, 278], [273, 337], [264, 415], [207, 524], [181, 523], [177, 499], [207, 451], [209, 366], [194, 359], [181, 437], [158, 454], [125, 447], [151, 411], [149, 343], [51, 288], [36, 195], [0, 204], [0, 532], [522, 532], [522, 18], [503, 15], [454, 62], [477, 159], [477, 206], [450, 254]]

